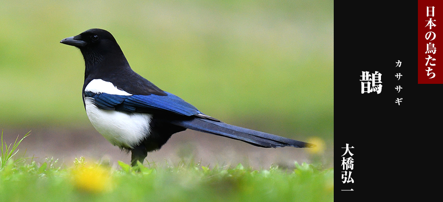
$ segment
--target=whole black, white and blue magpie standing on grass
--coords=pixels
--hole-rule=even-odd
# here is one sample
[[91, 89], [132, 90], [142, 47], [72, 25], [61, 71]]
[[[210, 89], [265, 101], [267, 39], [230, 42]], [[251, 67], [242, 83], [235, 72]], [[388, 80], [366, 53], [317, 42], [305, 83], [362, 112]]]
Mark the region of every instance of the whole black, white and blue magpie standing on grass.
[[309, 148], [315, 145], [225, 124], [161, 90], [132, 71], [112, 34], [89, 29], [60, 43], [80, 49], [85, 60], [83, 104], [95, 129], [114, 146], [131, 152], [131, 165], [143, 163], [172, 134], [192, 129], [257, 147]]

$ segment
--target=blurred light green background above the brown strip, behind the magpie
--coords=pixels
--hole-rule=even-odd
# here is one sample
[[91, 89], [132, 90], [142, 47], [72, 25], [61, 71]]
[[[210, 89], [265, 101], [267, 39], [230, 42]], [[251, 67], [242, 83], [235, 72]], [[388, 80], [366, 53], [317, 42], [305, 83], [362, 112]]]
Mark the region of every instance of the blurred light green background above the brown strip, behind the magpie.
[[2, 0], [0, 129], [92, 128], [83, 57], [59, 42], [103, 28], [135, 72], [205, 114], [332, 140], [333, 13], [332, 0]]

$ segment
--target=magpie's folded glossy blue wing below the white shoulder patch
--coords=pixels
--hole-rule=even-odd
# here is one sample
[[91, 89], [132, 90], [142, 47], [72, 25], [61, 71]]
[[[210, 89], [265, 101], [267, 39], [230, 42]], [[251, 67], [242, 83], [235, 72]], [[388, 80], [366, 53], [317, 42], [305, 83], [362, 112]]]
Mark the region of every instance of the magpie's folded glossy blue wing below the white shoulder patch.
[[[183, 99], [165, 92], [158, 95], [113, 95], [107, 93], [85, 92], [85, 97], [94, 99], [97, 107], [106, 110], [151, 113], [157, 111], [173, 112], [184, 116], [202, 116], [197, 108]], [[209, 116], [208, 116], [209, 117]]]

